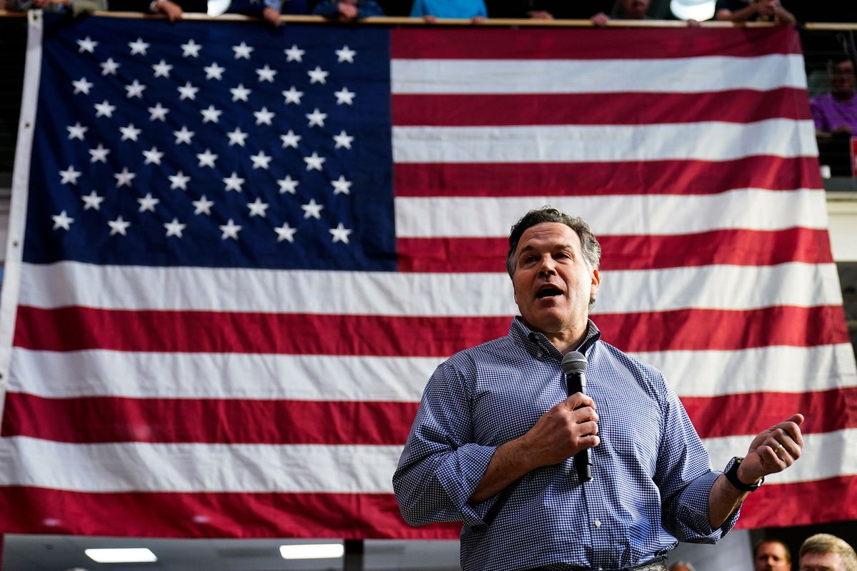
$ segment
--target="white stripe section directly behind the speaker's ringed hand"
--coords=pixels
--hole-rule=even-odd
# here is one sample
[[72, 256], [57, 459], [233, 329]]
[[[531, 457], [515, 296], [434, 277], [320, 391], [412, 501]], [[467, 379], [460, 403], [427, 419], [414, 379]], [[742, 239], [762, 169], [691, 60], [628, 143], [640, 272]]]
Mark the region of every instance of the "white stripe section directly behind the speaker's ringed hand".
[[[766, 428], [759, 426], [759, 432]], [[705, 438], [703, 443], [711, 456], [712, 465], [722, 470], [732, 456], [746, 455], [753, 436]], [[804, 449], [800, 459], [785, 471], [766, 476], [764, 485], [794, 484], [857, 474], [857, 454], [854, 454], [857, 429], [805, 434], [803, 439]]]

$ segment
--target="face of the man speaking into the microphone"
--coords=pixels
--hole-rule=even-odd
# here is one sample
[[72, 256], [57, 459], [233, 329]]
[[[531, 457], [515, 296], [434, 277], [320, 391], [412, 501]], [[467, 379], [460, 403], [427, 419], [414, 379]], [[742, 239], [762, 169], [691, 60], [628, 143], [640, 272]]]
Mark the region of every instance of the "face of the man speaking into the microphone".
[[585, 330], [590, 296], [601, 282], [577, 232], [554, 222], [531, 226], [518, 241], [514, 267], [515, 303], [526, 324], [548, 336]]

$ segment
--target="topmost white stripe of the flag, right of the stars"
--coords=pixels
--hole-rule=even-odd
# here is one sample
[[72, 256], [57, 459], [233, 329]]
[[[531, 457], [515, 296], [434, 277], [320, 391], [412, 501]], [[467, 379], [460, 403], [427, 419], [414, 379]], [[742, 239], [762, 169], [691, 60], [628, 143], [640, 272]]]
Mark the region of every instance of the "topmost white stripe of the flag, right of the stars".
[[800, 54], [638, 60], [396, 59], [391, 62], [390, 80], [395, 94], [698, 93], [806, 88]]

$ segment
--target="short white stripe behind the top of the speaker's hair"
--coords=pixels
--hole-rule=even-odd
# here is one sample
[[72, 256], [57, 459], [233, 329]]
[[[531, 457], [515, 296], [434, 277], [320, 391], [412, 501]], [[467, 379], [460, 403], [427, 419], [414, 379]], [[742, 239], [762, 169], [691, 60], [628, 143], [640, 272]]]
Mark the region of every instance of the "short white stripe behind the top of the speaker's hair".
[[524, 212], [542, 205], [583, 217], [598, 236], [827, 228], [823, 191], [741, 188], [717, 194], [621, 197], [400, 197], [396, 199], [396, 234], [402, 238], [507, 236]]

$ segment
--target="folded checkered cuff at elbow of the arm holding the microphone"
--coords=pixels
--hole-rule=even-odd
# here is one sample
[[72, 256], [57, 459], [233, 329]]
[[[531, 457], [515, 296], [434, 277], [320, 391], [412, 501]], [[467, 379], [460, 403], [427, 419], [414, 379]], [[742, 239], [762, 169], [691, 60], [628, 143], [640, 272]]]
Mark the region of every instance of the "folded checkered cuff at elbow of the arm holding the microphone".
[[467, 503], [476, 486], [482, 481], [495, 450], [494, 446], [464, 444], [452, 454], [446, 455], [437, 471], [441, 487], [446, 491], [450, 503], [461, 513], [465, 526], [485, 525], [482, 518], [497, 501], [495, 494], [476, 506]]

